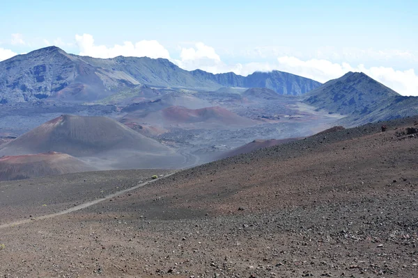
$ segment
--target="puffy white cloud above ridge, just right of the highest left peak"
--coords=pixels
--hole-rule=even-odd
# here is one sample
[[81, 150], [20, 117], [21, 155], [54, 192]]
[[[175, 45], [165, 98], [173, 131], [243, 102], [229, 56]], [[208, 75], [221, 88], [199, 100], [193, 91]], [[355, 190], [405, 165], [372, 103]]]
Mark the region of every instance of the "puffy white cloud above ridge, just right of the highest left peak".
[[135, 44], [124, 42], [123, 45], [115, 44], [113, 47], [95, 45], [92, 35], [75, 35], [77, 46], [82, 56], [95, 58], [114, 58], [116, 56], [134, 56], [149, 58], [170, 58], [169, 51], [156, 40], [141, 40]]

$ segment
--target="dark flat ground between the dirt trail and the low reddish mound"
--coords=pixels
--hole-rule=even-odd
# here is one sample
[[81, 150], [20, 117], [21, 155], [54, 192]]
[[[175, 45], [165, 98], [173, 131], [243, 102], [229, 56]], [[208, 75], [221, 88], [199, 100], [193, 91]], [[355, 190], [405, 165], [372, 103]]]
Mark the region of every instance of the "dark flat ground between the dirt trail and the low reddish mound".
[[56, 213], [111, 195], [170, 170], [111, 170], [0, 181], [0, 225]]

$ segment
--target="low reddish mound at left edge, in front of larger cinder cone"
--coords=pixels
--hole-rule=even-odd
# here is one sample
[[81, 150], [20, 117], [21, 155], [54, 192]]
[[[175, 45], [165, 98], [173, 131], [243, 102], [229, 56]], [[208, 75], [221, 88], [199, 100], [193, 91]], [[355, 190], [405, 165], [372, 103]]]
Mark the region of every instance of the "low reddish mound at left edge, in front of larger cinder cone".
[[73, 156], [58, 152], [0, 158], [0, 181], [94, 170], [97, 169]]

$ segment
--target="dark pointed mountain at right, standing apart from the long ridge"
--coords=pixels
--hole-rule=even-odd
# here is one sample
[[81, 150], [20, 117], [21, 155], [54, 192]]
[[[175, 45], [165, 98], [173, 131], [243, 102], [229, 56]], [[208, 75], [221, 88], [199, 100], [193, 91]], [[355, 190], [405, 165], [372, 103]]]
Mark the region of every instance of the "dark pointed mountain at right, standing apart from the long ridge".
[[347, 115], [339, 121], [344, 126], [418, 114], [418, 97], [401, 96], [362, 72], [348, 72], [304, 97], [307, 104]]

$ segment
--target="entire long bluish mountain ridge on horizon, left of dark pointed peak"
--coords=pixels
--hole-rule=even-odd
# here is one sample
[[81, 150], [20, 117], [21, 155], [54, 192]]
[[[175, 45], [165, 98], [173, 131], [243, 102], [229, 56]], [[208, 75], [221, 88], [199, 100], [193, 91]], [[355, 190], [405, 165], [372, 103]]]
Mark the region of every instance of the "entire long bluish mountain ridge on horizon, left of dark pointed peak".
[[[0, 103], [13, 104], [39, 99], [97, 101], [118, 92], [132, 95], [139, 85], [162, 88], [217, 90], [222, 87], [267, 87], [284, 95], [300, 95], [320, 83], [286, 72], [210, 74], [182, 70], [167, 59], [123, 57], [91, 58], [46, 47], [0, 62]], [[139, 90], [141, 92], [141, 90]], [[155, 91], [142, 90], [144, 95]], [[118, 99], [115, 96], [114, 99]], [[106, 99], [104, 103], [112, 103]]]

